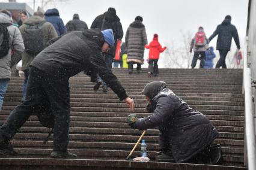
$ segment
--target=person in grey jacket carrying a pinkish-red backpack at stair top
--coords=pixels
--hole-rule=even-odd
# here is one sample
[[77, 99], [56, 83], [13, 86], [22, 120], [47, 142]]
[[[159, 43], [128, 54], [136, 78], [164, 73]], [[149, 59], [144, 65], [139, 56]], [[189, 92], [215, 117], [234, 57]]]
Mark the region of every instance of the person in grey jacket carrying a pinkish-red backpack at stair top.
[[204, 62], [206, 60], [206, 50], [208, 48], [209, 40], [206, 37], [206, 34], [204, 32], [204, 28], [200, 26], [198, 28], [197, 34], [195, 34], [195, 37], [192, 39], [190, 44], [190, 50], [189, 52], [192, 53], [192, 49], [194, 50], [194, 57], [192, 59], [191, 68], [195, 68], [197, 65], [197, 60], [200, 59], [200, 68], [204, 67]]

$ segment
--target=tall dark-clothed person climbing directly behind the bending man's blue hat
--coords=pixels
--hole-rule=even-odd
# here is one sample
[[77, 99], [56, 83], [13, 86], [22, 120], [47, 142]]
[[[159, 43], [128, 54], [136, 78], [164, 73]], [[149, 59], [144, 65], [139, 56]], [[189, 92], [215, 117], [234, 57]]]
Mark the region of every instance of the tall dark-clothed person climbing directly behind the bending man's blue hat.
[[[113, 45], [108, 53], [105, 53], [106, 66], [107, 68], [111, 69], [112, 62], [115, 57], [115, 50], [117, 48], [117, 40], [121, 40], [124, 35], [123, 27], [119, 17], [117, 16], [115, 8], [110, 7], [104, 14], [97, 16], [91, 24], [91, 29], [94, 28], [99, 28], [100, 30], [112, 29], [114, 32], [115, 45]], [[102, 78], [100, 78], [99, 75], [97, 75], [95, 81], [97, 84], [94, 86], [94, 90], [99, 90], [99, 87], [102, 84], [103, 92], [108, 92], [108, 86], [104, 81], [102, 81]]]

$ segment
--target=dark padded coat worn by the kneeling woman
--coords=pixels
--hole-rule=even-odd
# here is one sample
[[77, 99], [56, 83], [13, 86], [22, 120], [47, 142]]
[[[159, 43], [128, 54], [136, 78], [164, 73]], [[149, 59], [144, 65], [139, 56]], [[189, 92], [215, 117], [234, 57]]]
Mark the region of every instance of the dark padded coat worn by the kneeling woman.
[[136, 128], [144, 130], [159, 126], [160, 133], [168, 133], [176, 162], [189, 160], [218, 136], [210, 120], [199, 111], [192, 110], [172, 90], [163, 88], [151, 102], [154, 113], [137, 120]]

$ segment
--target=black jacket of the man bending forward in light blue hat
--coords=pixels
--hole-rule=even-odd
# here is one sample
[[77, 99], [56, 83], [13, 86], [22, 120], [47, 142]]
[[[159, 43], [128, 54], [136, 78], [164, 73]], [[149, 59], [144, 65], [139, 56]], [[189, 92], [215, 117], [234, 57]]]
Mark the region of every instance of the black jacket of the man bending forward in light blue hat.
[[112, 71], [106, 68], [101, 49], [104, 42], [100, 29], [70, 32], [41, 51], [31, 66], [49, 75], [67, 79], [81, 71], [97, 72], [123, 100], [127, 98], [126, 91]]

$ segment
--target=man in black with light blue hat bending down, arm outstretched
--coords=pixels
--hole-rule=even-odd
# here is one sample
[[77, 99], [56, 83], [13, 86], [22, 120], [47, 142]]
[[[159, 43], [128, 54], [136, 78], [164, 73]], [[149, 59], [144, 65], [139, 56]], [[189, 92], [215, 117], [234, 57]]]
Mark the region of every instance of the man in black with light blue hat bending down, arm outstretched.
[[[29, 116], [43, 114], [40, 108], [49, 108], [53, 116], [53, 158], [75, 158], [67, 151], [69, 144], [70, 89], [69, 78], [81, 71], [88, 75], [99, 73], [100, 77], [118, 95], [121, 101], [134, 110], [130, 99], [117, 77], [106, 68], [102, 52], [114, 45], [111, 29], [87, 29], [63, 35], [52, 45], [44, 48], [32, 61], [29, 69], [25, 101], [10, 113], [0, 128], [0, 154], [16, 154], [10, 139], [28, 120]], [[43, 123], [42, 123], [43, 124]]]

